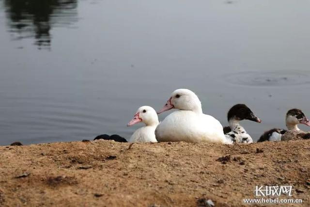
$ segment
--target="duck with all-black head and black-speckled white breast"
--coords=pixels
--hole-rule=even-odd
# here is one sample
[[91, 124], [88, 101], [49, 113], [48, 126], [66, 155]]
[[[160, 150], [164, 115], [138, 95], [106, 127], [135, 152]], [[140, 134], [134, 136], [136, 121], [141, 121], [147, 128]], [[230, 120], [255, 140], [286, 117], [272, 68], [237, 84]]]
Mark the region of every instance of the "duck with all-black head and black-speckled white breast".
[[233, 143], [253, 143], [253, 139], [239, 122], [244, 119], [258, 123], [262, 121], [245, 104], [234, 105], [228, 111], [227, 119], [229, 127], [223, 128], [227, 138], [231, 139]]

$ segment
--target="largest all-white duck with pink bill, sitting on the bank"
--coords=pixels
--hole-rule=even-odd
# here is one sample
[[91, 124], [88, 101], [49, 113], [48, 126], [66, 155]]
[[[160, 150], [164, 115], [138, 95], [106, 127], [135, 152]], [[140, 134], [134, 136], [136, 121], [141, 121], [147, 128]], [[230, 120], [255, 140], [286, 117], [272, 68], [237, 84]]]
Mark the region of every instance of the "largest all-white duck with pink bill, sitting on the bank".
[[194, 92], [175, 90], [157, 113], [171, 109], [179, 111], [172, 112], [157, 126], [155, 135], [158, 142], [232, 143], [225, 137], [219, 121], [202, 113], [202, 104]]

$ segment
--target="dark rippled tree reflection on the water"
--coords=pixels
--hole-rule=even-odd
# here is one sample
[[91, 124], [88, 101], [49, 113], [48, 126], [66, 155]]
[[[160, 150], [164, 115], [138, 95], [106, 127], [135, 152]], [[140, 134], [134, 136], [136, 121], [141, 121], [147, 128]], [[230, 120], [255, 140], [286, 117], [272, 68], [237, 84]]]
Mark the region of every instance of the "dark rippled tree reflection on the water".
[[68, 27], [77, 20], [77, 0], [5, 0], [14, 40], [34, 38], [39, 49], [51, 46], [51, 28]]

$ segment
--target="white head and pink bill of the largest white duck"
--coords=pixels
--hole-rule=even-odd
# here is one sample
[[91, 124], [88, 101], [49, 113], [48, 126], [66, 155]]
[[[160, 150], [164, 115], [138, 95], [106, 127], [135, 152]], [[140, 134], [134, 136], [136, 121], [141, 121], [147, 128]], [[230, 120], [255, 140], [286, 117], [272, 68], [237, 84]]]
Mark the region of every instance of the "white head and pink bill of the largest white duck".
[[172, 92], [167, 103], [157, 114], [171, 109], [202, 112], [202, 104], [194, 92], [188, 89], [177, 89]]

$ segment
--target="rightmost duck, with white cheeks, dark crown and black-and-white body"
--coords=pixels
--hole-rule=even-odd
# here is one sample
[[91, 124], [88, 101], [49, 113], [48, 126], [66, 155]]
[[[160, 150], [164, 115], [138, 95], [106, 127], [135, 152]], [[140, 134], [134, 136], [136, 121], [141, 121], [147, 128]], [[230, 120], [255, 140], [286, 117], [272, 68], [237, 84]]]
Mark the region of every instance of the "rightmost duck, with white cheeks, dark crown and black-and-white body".
[[[304, 124], [310, 126], [310, 121], [300, 109], [291, 109], [286, 113], [285, 124], [290, 131], [300, 131], [297, 125]], [[265, 131], [257, 142], [281, 141], [281, 137], [286, 131], [280, 128], [270, 129]]]

